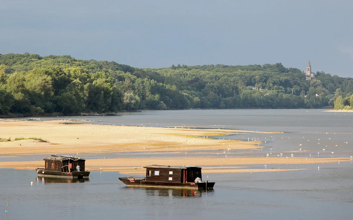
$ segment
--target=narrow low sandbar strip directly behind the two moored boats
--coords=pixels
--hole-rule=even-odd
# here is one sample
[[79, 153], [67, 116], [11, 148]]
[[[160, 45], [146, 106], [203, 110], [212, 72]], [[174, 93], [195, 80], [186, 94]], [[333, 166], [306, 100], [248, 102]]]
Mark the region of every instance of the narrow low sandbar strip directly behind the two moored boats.
[[[296, 164], [323, 164], [338, 163], [338, 161], [350, 161], [350, 158], [114, 158], [86, 160], [88, 171], [119, 171], [126, 174], [144, 175], [143, 166], [152, 164], [170, 166], [201, 166], [203, 173], [227, 173], [227, 172], [270, 172], [303, 170], [295, 169]], [[265, 169], [264, 165], [267, 165]], [[282, 169], [281, 165], [292, 164], [293, 169]], [[233, 165], [233, 166], [232, 166]], [[240, 166], [234, 166], [240, 165]], [[244, 165], [259, 165], [259, 169]], [[34, 170], [43, 167], [44, 161], [11, 161], [0, 162], [0, 168], [15, 168]], [[274, 169], [271, 169], [274, 168]], [[280, 168], [280, 169], [278, 169]]]

